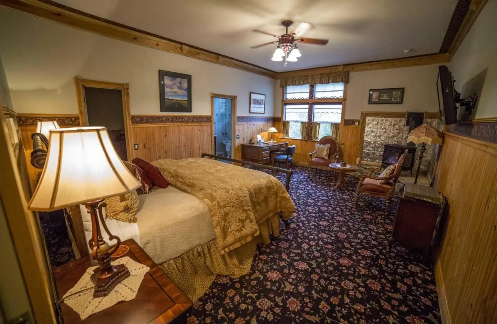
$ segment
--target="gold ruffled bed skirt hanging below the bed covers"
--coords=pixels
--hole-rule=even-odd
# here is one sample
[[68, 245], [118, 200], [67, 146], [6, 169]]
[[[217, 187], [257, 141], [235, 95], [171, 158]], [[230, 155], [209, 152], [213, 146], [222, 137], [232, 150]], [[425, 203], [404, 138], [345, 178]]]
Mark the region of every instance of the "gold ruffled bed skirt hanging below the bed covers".
[[257, 243], [268, 244], [270, 235], [279, 236], [279, 214], [258, 226], [258, 236], [225, 254], [220, 253], [216, 240], [212, 240], [167, 260], [160, 266], [192, 301], [196, 301], [207, 291], [217, 275], [237, 278], [250, 271]]

